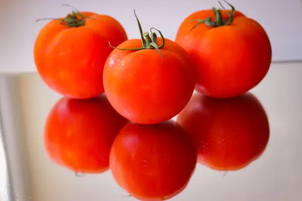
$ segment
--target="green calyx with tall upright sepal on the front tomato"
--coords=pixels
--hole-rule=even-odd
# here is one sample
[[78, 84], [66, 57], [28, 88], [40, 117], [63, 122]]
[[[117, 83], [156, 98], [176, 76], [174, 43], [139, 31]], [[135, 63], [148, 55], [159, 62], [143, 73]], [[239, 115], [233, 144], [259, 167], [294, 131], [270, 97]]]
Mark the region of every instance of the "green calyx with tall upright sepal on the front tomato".
[[[163, 59], [163, 56], [161, 54], [161, 51], [160, 49], [163, 48], [165, 46], [165, 38], [162, 34], [162, 32], [156, 28], [151, 28], [150, 29], [150, 33], [151, 33], [151, 37], [149, 35], [148, 32], [144, 32], [142, 33], [142, 29], [141, 29], [141, 25], [139, 23], [139, 20], [135, 14], [135, 10], [134, 10], [134, 15], [135, 15], [135, 18], [136, 18], [136, 21], [137, 21], [137, 24], [138, 24], [138, 28], [139, 28], [139, 32], [140, 32], [140, 37], [141, 37], [141, 44], [142, 44], [142, 47], [137, 47], [137, 48], [132, 48], [132, 49], [121, 49], [121, 48], [117, 48], [117, 47], [113, 47], [110, 42], [109, 42], [109, 45], [110, 47], [113, 47], [115, 49], [118, 49], [118, 50], [146, 50], [146, 49], [156, 49], [161, 58]], [[159, 32], [159, 34], [161, 35], [161, 38], [163, 39], [163, 44], [161, 46], [158, 46], [157, 45], [157, 35], [155, 32], [152, 32], [152, 30], [156, 30]]]

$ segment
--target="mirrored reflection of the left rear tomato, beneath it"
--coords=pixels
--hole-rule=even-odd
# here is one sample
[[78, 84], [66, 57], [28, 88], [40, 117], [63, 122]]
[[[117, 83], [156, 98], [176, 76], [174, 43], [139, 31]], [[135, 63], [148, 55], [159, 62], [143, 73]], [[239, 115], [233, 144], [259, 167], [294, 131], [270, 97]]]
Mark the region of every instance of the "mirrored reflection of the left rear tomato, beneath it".
[[78, 173], [109, 169], [114, 138], [127, 124], [103, 94], [92, 99], [58, 100], [48, 114], [44, 145], [54, 162]]

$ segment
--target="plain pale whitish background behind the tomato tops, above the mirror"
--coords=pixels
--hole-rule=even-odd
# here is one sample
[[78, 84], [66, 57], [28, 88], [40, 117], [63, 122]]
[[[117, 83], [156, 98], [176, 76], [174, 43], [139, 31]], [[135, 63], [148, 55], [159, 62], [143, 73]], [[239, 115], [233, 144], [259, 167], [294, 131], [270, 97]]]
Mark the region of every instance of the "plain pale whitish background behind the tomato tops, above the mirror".
[[[300, 0], [229, 0], [237, 10], [258, 21], [267, 31], [273, 49], [273, 61], [302, 60], [302, 23]], [[191, 13], [217, 7], [216, 0], [1, 0], [0, 73], [34, 72], [33, 45], [46, 22], [44, 17], [62, 17], [71, 4], [83, 11], [93, 11], [116, 18], [128, 38], [138, 38], [133, 9], [143, 26], [160, 29], [166, 38], [175, 39], [180, 23]]]

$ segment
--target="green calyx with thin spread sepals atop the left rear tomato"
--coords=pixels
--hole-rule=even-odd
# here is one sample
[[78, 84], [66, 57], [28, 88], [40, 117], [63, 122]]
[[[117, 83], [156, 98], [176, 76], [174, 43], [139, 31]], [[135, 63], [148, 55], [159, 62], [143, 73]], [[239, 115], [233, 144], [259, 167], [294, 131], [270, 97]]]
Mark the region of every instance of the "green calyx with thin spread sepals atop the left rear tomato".
[[[39, 22], [41, 20], [59, 20], [61, 25], [67, 26], [69, 28], [74, 27], [82, 27], [85, 25], [85, 18], [89, 18], [87, 16], [84, 16], [80, 13], [80, 11], [73, 6], [70, 6], [68, 4], [62, 4], [62, 6], [71, 7], [74, 9], [74, 11], [71, 12], [71, 14], [68, 14], [65, 18], [59, 19], [59, 18], [41, 18], [36, 20], [36, 22]], [[80, 16], [81, 18], [78, 19], [77, 16]]]

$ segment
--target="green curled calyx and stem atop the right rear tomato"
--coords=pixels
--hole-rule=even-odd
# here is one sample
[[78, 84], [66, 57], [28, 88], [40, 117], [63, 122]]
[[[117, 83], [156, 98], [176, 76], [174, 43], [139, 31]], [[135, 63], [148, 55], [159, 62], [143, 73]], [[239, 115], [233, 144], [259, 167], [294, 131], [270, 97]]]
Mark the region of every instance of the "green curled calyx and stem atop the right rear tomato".
[[218, 3], [219, 3], [219, 5], [221, 6], [221, 8], [224, 10], [224, 11], [226, 11], [227, 13], [228, 13], [228, 15], [229, 15], [229, 18], [228, 19], [226, 19], [226, 20], [223, 20], [222, 19], [222, 14], [221, 14], [221, 10], [218, 8], [218, 9], [216, 9], [216, 8], [212, 8], [212, 10], [213, 10], [213, 12], [214, 12], [214, 15], [215, 15], [215, 20], [214, 21], [212, 21], [212, 18], [211, 17], [208, 17], [208, 18], [206, 18], [206, 19], [199, 19], [199, 20], [190, 20], [190, 21], [197, 21], [198, 23], [196, 24], [196, 25], [194, 25], [194, 27], [192, 27], [192, 29], [191, 29], [191, 31], [195, 28], [195, 27], [197, 27], [198, 25], [200, 25], [200, 24], [206, 24], [207, 26], [210, 26], [210, 27], [221, 27], [221, 26], [226, 26], [226, 25], [231, 25], [232, 23], [233, 23], [233, 21], [234, 21], [234, 13], [235, 13], [235, 8], [231, 5], [231, 4], [229, 4], [228, 2], [226, 2], [225, 0], [222, 0], [223, 2], [225, 2], [226, 4], [228, 4], [230, 7], [231, 7], [231, 9], [232, 9], [232, 11], [231, 11], [231, 13], [228, 11], [228, 10], [226, 10], [223, 6], [222, 6], [222, 4], [218, 1]]

